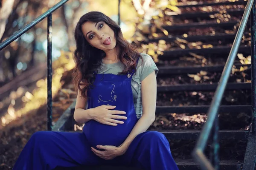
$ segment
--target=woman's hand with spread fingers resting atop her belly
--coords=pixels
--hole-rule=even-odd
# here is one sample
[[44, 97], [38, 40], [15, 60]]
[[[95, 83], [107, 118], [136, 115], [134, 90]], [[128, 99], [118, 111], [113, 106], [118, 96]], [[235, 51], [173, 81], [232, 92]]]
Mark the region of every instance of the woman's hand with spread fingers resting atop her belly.
[[101, 105], [96, 108], [93, 108], [93, 119], [99, 123], [111, 126], [117, 126], [117, 124], [123, 124], [123, 121], [116, 119], [127, 119], [125, 116], [119, 116], [117, 114], [126, 114], [125, 111], [115, 111], [110, 110], [114, 109], [116, 106], [111, 105]]

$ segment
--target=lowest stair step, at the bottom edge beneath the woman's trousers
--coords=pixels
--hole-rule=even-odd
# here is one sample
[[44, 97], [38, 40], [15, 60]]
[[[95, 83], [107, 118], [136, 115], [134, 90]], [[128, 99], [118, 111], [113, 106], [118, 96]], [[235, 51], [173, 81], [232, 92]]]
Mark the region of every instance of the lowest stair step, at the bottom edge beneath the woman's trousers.
[[[179, 170], [200, 170], [198, 164], [193, 159], [175, 159]], [[236, 160], [220, 160], [220, 170], [240, 170], [241, 161]], [[141, 170], [134, 167], [114, 167], [114, 166], [84, 166], [84, 167], [68, 167], [55, 168], [55, 170]]]

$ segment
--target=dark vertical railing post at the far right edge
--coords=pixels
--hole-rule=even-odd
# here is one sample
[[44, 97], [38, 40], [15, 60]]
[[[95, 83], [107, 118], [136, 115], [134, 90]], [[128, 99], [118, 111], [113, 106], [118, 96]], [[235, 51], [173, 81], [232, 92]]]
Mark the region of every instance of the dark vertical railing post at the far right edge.
[[252, 133], [256, 133], [256, 7], [255, 1], [250, 13], [250, 29], [251, 29], [251, 64], [252, 64]]

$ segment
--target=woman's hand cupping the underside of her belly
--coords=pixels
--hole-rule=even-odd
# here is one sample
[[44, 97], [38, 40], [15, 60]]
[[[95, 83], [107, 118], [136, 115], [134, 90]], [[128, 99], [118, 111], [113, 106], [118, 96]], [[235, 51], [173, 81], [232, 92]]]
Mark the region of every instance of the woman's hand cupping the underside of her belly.
[[122, 147], [110, 146], [110, 145], [97, 145], [99, 149], [103, 149], [104, 151], [96, 150], [95, 148], [91, 147], [92, 151], [102, 159], [110, 160], [114, 159], [117, 156], [121, 156], [125, 153], [125, 149]]

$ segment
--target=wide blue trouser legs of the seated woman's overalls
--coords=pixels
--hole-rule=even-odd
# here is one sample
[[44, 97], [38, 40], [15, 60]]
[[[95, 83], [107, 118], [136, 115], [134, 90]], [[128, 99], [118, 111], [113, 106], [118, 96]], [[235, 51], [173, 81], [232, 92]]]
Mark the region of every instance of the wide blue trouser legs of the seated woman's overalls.
[[145, 170], [178, 170], [169, 142], [157, 131], [139, 134], [124, 155], [112, 160], [96, 156], [84, 133], [38, 131], [23, 148], [13, 170], [52, 170], [57, 166], [81, 165], [128, 165]]

